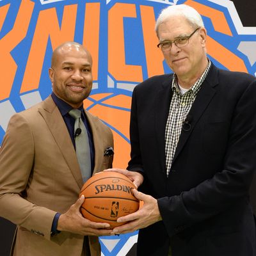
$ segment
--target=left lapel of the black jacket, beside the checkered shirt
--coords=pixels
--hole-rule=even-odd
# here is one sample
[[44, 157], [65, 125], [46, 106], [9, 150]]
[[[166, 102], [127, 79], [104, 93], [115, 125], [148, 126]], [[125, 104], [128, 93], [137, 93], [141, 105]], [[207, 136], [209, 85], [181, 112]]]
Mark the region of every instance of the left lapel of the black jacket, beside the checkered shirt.
[[170, 101], [172, 99], [172, 75], [161, 84], [161, 89], [156, 97], [156, 136], [157, 154], [160, 157], [161, 170], [165, 171], [165, 126], [169, 114]]

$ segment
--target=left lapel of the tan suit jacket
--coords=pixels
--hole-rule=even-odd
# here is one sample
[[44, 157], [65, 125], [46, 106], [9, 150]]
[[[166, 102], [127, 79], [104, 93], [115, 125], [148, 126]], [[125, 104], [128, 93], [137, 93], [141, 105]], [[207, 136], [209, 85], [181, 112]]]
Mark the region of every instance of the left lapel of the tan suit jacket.
[[44, 100], [43, 106], [44, 108], [38, 109], [38, 111], [41, 113], [46, 124], [48, 125], [49, 130], [60, 148], [61, 153], [63, 154], [63, 157], [67, 162], [79, 188], [82, 188], [83, 180], [76, 158], [76, 151], [74, 150], [67, 126], [65, 125], [61, 113], [51, 96]]

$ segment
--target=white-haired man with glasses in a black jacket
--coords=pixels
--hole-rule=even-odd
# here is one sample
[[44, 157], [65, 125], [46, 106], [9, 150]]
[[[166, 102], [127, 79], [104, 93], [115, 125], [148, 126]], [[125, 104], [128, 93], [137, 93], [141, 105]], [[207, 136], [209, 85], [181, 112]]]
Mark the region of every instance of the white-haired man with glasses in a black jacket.
[[131, 161], [112, 171], [134, 181], [144, 205], [113, 233], [140, 229], [138, 256], [256, 255], [255, 77], [211, 63], [204, 24], [189, 6], [163, 10], [156, 33], [174, 74], [134, 89]]

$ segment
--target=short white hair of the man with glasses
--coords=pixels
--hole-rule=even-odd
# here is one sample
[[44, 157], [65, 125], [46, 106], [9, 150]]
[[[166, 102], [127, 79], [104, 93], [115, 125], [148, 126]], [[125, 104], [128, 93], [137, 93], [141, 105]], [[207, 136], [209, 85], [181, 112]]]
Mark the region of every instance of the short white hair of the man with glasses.
[[194, 29], [204, 28], [202, 17], [194, 8], [186, 4], [177, 4], [168, 6], [161, 11], [159, 17], [156, 20], [156, 33], [159, 25], [173, 16], [183, 16], [186, 20], [188, 20], [189, 24], [191, 24]]

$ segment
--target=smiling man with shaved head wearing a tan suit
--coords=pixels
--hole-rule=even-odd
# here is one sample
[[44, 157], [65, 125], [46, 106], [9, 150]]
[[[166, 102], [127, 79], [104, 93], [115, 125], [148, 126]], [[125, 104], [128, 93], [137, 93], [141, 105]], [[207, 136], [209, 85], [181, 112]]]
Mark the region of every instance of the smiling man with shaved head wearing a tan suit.
[[113, 134], [83, 110], [92, 90], [92, 57], [75, 42], [60, 45], [49, 68], [52, 94], [12, 116], [0, 149], [0, 216], [17, 225], [12, 255], [100, 255], [98, 236], [109, 224], [86, 220], [78, 199], [83, 179], [76, 157], [74, 118], [81, 109], [92, 174], [109, 168]]

